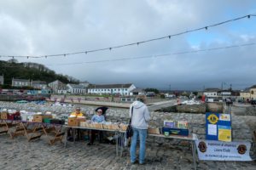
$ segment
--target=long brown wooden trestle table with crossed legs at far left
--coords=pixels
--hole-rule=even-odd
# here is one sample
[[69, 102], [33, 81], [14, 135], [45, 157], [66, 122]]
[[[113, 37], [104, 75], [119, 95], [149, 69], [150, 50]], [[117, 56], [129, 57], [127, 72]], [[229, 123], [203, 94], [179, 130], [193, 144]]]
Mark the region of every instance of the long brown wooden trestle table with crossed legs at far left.
[[[12, 139], [14, 139], [17, 136], [23, 135], [26, 133], [26, 138], [28, 139], [28, 142], [30, 142], [32, 139], [40, 139], [41, 136], [45, 133], [47, 139], [49, 140], [49, 144], [52, 145], [57, 141], [61, 141], [64, 137], [64, 133], [60, 133], [61, 131], [61, 124], [50, 124], [50, 123], [44, 123], [44, 122], [25, 122], [25, 121], [20, 121], [20, 120], [5, 120], [5, 119], [0, 119], [1, 124], [0, 127], [3, 127], [5, 123], [5, 127], [8, 128], [8, 131], [10, 133], [10, 136]], [[15, 122], [15, 124], [13, 124], [13, 122]], [[27, 127], [29, 125], [32, 125], [33, 129], [32, 130], [28, 130]], [[39, 125], [41, 125], [41, 127], [38, 127]], [[21, 127], [22, 126], [22, 127]], [[51, 127], [49, 127], [51, 126]], [[5, 129], [4, 127], [4, 129]], [[15, 132], [11, 133], [10, 131], [10, 127], [16, 127], [15, 128]], [[59, 127], [58, 130], [56, 129], [56, 127]], [[42, 130], [41, 133], [38, 133], [38, 131]], [[7, 132], [8, 132], [7, 131]], [[20, 132], [21, 131], [21, 132]], [[6, 131], [0, 132], [0, 133], [7, 133]], [[20, 133], [18, 133], [20, 132]], [[54, 139], [49, 139], [49, 132], [54, 132], [55, 133], [55, 138]], [[29, 136], [29, 133], [32, 133], [31, 136]], [[33, 134], [37, 133], [37, 136], [33, 137]]]

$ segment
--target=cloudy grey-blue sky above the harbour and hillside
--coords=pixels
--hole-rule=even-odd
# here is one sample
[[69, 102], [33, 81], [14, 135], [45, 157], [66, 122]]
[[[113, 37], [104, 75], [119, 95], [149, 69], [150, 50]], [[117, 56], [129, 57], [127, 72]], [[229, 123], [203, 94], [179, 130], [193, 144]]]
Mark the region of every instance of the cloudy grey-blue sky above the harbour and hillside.
[[[256, 13], [254, 0], [0, 0], [0, 54], [68, 54], [165, 37]], [[256, 16], [177, 37], [38, 62], [56, 73], [96, 84], [138, 88], [243, 89], [256, 84]], [[208, 48], [222, 48], [189, 54]], [[127, 59], [158, 54], [161, 57]], [[8, 60], [8, 58], [1, 58]], [[57, 65], [127, 59], [79, 65]], [[16, 77], [19, 78], [19, 77]], [[44, 80], [43, 80], [44, 81]]]

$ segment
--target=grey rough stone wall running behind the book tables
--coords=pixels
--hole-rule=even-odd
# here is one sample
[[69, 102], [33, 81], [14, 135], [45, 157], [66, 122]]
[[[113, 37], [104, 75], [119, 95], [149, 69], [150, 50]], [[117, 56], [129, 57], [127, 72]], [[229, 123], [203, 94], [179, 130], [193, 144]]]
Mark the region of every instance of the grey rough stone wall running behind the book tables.
[[[17, 111], [26, 110], [34, 112], [46, 112], [50, 111], [55, 114], [70, 114], [75, 111], [73, 107], [64, 107], [57, 105], [33, 105], [33, 104], [17, 104], [0, 102], [0, 109], [15, 109]], [[96, 114], [96, 107], [81, 108], [81, 112], [90, 119]], [[197, 134], [198, 139], [206, 139], [206, 115], [205, 114], [187, 114], [187, 113], [164, 113], [158, 111], [152, 111], [149, 113], [151, 120], [150, 125], [162, 127], [164, 120], [175, 120], [177, 122], [188, 122], [189, 133]], [[128, 110], [113, 110], [109, 109], [105, 115], [107, 121], [111, 122], [125, 122], [129, 120]], [[248, 117], [247, 117], [248, 118]], [[250, 118], [248, 118], [250, 119]], [[255, 153], [253, 131], [244, 121], [243, 116], [232, 116], [232, 141], [234, 142], [250, 142], [252, 148], [250, 155]], [[164, 139], [159, 137], [148, 136], [147, 145], [159, 146], [165, 148], [176, 148], [183, 150], [183, 152], [191, 152], [191, 142], [188, 140], [179, 139]]]

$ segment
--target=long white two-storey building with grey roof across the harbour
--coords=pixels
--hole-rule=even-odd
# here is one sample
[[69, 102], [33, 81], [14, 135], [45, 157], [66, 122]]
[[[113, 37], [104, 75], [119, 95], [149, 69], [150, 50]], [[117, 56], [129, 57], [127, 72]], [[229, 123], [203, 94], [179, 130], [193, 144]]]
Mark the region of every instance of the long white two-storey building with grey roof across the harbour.
[[130, 95], [134, 88], [136, 87], [133, 83], [93, 85], [88, 88], [88, 94]]

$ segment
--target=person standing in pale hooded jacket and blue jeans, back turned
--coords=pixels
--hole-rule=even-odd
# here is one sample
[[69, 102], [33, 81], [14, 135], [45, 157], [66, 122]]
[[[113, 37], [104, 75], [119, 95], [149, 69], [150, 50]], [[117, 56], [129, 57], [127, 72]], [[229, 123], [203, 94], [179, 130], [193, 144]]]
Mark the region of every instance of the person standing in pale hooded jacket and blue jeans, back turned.
[[[137, 101], [133, 102], [130, 106], [129, 115], [131, 118], [131, 129], [133, 132], [131, 140], [131, 163], [135, 163], [136, 160], [136, 147], [137, 139], [140, 136], [140, 156], [139, 163], [145, 164], [145, 152], [146, 152], [146, 138], [148, 130], [148, 122], [150, 116], [148, 113], [148, 107], [146, 103], [147, 97], [145, 94], [138, 94]], [[131, 114], [132, 112], [132, 114]]]

